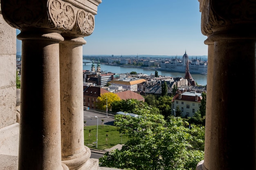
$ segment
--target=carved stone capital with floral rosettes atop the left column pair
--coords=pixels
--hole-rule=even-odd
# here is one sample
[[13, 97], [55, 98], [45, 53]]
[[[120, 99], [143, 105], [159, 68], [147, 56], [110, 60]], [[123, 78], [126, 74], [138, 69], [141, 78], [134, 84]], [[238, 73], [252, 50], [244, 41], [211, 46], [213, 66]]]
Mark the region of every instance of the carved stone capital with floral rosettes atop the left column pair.
[[[55, 29], [92, 34], [101, 0], [1, 0], [2, 15], [16, 29]], [[84, 3], [84, 4], [82, 4]]]

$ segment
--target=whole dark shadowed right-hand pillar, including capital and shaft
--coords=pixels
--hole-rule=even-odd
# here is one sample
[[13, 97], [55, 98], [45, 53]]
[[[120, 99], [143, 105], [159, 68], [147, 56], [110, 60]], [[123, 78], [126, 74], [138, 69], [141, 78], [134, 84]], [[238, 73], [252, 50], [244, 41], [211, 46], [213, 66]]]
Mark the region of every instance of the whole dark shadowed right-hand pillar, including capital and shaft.
[[[214, 64], [207, 77], [205, 156], [197, 170], [256, 168], [255, 4], [200, 0], [202, 33], [214, 42]], [[250, 83], [237, 84], [244, 80]]]

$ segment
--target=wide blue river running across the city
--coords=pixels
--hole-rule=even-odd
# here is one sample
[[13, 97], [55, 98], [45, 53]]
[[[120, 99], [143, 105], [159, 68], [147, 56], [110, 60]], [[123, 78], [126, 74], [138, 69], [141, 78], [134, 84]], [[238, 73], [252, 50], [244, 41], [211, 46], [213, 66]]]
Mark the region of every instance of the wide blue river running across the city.
[[[97, 63], [94, 63], [95, 68], [97, 67]], [[83, 70], [91, 70], [92, 63], [87, 63], [83, 65]], [[130, 73], [132, 71], [135, 71], [136, 73], [144, 73], [147, 75], [153, 74], [155, 75], [156, 70], [149, 70], [147, 68], [133, 68], [133, 67], [121, 67], [121, 66], [111, 66], [106, 64], [101, 64], [101, 71], [106, 72], [112, 72], [112, 73]], [[171, 76], [171, 77], [184, 77], [185, 73], [176, 73], [176, 72], [168, 72], [168, 71], [160, 71], [157, 70], [158, 75], [162, 76]], [[197, 82], [198, 85], [205, 86], [207, 84], [207, 75], [201, 75], [201, 74], [191, 74], [195, 82]]]

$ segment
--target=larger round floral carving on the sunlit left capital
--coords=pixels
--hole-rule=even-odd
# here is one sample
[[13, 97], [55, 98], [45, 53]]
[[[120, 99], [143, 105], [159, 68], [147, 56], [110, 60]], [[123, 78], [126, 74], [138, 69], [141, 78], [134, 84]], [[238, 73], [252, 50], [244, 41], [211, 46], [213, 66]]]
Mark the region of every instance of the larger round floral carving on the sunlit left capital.
[[71, 30], [75, 24], [74, 7], [63, 1], [53, 0], [49, 4], [49, 14], [57, 28]]

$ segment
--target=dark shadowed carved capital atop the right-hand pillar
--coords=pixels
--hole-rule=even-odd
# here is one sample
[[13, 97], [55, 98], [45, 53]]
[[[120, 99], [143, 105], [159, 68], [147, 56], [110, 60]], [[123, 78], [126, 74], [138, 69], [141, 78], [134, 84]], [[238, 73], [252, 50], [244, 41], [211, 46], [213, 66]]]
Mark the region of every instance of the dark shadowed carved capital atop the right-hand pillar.
[[[255, 0], [198, 0], [201, 30], [204, 35], [229, 32], [232, 36], [247, 37], [256, 30]], [[253, 35], [255, 38], [255, 36]]]

